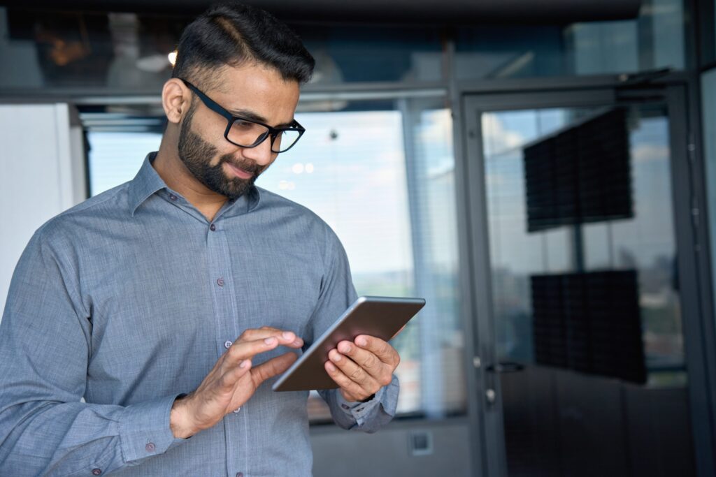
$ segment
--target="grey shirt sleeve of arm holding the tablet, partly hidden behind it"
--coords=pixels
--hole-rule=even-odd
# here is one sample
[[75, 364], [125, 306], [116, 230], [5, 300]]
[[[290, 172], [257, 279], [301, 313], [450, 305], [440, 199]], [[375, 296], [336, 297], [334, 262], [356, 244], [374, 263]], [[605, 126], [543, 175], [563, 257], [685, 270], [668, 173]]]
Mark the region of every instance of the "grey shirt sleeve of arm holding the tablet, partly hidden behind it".
[[[323, 334], [358, 297], [346, 252], [334, 232], [327, 226], [326, 229], [326, 271], [313, 314], [314, 337]], [[348, 403], [337, 389], [319, 390], [319, 394], [328, 404], [337, 426], [373, 433], [395, 416], [399, 391], [400, 384], [393, 375], [392, 382], [367, 403]]]

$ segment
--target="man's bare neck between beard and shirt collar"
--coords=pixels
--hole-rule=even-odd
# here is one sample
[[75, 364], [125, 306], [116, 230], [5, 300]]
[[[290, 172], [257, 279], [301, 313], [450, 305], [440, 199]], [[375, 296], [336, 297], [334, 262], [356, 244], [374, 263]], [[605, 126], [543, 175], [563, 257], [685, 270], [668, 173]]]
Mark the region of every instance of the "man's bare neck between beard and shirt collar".
[[226, 197], [208, 190], [196, 180], [177, 155], [170, 154], [161, 147], [152, 166], [170, 189], [185, 197], [209, 222], [226, 202]]

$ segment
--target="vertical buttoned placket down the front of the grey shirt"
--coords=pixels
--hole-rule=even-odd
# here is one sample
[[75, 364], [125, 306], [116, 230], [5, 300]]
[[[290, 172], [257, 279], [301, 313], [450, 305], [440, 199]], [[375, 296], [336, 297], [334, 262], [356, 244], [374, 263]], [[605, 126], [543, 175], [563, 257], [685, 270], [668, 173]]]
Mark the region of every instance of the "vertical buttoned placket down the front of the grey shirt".
[[[213, 297], [213, 318], [216, 329], [216, 357], [221, 357], [231, 348], [239, 330], [236, 325], [238, 310], [236, 308], [236, 290], [234, 289], [231, 254], [222, 221], [211, 222], [207, 227], [207, 257], [211, 295]], [[248, 462], [244, 453], [236, 449], [246, 448], [241, 442], [238, 429], [243, 427], [242, 409], [238, 408], [223, 419], [224, 435], [226, 436], [226, 469], [227, 475], [246, 476]]]

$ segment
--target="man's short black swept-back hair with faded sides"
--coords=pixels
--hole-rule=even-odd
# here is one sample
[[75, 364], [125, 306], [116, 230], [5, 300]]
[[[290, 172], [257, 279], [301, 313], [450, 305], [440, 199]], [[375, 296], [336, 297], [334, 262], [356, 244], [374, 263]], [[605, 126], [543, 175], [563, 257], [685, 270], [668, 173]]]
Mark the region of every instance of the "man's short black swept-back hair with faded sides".
[[274, 67], [299, 84], [309, 82], [316, 63], [299, 36], [267, 11], [222, 1], [184, 29], [172, 77], [214, 89], [221, 87], [216, 69], [247, 61]]

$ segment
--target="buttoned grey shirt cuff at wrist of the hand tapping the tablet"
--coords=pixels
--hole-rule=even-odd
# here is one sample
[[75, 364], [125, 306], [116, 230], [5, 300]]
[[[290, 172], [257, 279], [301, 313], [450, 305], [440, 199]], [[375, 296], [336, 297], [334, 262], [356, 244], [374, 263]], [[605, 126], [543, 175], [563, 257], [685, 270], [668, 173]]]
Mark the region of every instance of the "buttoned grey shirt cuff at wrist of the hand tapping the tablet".
[[125, 462], [157, 456], [186, 439], [175, 438], [169, 415], [177, 395], [128, 405], [120, 421], [120, 442]]

